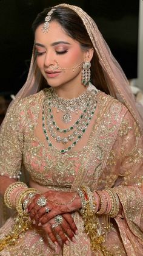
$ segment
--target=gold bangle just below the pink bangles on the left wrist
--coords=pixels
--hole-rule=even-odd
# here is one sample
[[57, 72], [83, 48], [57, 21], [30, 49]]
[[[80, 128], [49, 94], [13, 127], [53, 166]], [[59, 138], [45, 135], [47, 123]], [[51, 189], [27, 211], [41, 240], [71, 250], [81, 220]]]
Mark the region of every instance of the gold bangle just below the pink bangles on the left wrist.
[[38, 193], [38, 190], [36, 190], [36, 188], [27, 188], [26, 190], [22, 191], [22, 193], [19, 195], [16, 201], [16, 210], [20, 216], [24, 215], [24, 209], [22, 207], [22, 203], [23, 203], [24, 197], [27, 196], [29, 193]]

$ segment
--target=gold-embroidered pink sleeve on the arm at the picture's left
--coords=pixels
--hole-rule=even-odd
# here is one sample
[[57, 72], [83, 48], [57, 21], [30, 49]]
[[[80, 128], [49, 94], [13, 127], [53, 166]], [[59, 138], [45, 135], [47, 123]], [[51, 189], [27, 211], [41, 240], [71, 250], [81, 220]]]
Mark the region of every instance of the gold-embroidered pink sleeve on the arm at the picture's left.
[[24, 111], [21, 104], [7, 113], [0, 133], [0, 175], [18, 178], [24, 147]]

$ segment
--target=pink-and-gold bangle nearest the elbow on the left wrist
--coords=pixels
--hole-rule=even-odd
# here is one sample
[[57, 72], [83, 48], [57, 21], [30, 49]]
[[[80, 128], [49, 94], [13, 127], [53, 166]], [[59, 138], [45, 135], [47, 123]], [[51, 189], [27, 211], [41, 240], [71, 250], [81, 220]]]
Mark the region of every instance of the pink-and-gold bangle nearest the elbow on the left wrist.
[[10, 202], [10, 194], [17, 187], [28, 188], [27, 185], [24, 182], [13, 182], [12, 184], [10, 184], [7, 187], [7, 189], [5, 190], [5, 193], [4, 193], [4, 202], [5, 202], [5, 205], [7, 205], [8, 208], [13, 208], [13, 205]]

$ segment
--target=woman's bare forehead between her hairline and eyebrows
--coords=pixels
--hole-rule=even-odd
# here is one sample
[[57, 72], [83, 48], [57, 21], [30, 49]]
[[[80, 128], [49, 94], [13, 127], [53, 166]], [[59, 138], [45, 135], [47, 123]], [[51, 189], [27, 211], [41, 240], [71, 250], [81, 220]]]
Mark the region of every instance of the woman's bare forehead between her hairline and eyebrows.
[[[48, 32], [42, 32], [42, 24], [38, 26], [35, 31], [35, 41], [38, 43], [53, 43], [53, 41], [68, 40], [69, 43], [73, 43], [73, 40], [63, 29], [63, 27], [56, 21], [51, 21], [49, 24]], [[78, 42], [77, 42], [78, 43]]]

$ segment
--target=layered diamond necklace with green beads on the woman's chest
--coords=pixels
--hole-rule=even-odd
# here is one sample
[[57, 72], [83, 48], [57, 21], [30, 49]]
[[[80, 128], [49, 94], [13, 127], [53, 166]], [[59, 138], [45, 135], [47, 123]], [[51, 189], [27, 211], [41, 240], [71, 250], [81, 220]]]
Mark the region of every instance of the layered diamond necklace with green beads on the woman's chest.
[[[74, 146], [76, 146], [93, 118], [96, 104], [97, 97], [95, 90], [85, 91], [85, 93], [81, 94], [78, 98], [64, 99], [59, 98], [53, 88], [48, 89], [45, 92], [42, 109], [42, 127], [45, 138], [48, 141], [48, 145], [50, 147], [53, 146], [48, 135], [50, 134], [50, 136], [58, 141], [58, 143], [66, 144], [68, 141], [71, 141], [70, 146], [61, 150], [62, 154], [70, 151]], [[55, 107], [57, 112], [61, 110], [63, 113], [62, 121], [64, 123], [71, 121], [71, 113], [78, 114], [79, 110], [82, 110], [82, 113], [72, 126], [68, 127], [68, 129], [61, 129], [56, 124], [52, 107]], [[71, 133], [68, 134], [69, 132]], [[61, 137], [60, 134], [64, 134], [64, 137]]]

